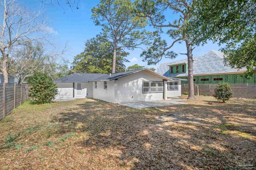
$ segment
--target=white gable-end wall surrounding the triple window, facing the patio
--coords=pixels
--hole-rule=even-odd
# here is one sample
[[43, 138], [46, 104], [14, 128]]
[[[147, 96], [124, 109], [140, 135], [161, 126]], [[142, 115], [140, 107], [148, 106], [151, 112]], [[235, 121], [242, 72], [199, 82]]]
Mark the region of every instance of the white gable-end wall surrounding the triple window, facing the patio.
[[140, 71], [118, 78], [117, 99], [119, 103], [162, 100], [163, 93], [142, 93], [143, 81], [163, 81], [162, 78]]

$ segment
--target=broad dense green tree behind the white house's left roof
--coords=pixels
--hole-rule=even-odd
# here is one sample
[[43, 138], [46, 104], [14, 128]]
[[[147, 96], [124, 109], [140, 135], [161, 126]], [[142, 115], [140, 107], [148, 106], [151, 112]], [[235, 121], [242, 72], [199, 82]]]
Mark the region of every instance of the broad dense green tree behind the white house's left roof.
[[[116, 51], [116, 70], [124, 71], [124, 62], [129, 62], [122, 49]], [[111, 73], [112, 72], [113, 43], [103, 35], [97, 35], [85, 43], [84, 52], [74, 57], [72, 72]]]

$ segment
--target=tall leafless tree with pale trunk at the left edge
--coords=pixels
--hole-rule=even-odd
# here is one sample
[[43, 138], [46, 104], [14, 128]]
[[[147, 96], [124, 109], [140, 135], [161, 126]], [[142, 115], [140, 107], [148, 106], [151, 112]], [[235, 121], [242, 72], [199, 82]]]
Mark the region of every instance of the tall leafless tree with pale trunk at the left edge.
[[0, 2], [0, 52], [2, 54], [1, 70], [4, 82], [8, 83], [8, 62], [12, 61], [11, 53], [15, 48], [30, 42], [47, 41], [46, 20], [42, 16], [42, 8], [31, 10], [17, 0]]

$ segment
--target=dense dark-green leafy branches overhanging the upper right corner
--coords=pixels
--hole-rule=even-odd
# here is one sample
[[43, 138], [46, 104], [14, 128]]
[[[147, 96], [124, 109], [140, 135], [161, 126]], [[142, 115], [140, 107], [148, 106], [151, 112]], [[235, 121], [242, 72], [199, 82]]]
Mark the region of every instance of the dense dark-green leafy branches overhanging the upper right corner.
[[224, 46], [226, 64], [246, 67], [246, 78], [256, 73], [255, 0], [197, 0], [193, 15], [187, 31], [196, 37], [195, 45], [217, 42]]

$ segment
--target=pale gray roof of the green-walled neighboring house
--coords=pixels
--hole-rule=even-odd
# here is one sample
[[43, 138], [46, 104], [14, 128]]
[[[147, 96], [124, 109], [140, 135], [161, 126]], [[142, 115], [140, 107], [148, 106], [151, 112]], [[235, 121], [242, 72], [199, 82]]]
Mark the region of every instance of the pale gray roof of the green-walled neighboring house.
[[[156, 72], [162, 74], [166, 77], [182, 77], [188, 76], [186, 73], [170, 74], [170, 64], [179, 64], [186, 62], [186, 59], [173, 61], [169, 63], [162, 63], [156, 69]], [[230, 66], [225, 66], [223, 53], [220, 51], [211, 50], [208, 53], [202, 55], [201, 57], [195, 58], [193, 62], [194, 75], [197, 74], [213, 74], [213, 73], [226, 73], [226, 72], [236, 72], [237, 69], [231, 68]], [[240, 71], [245, 71], [243, 68]]]

